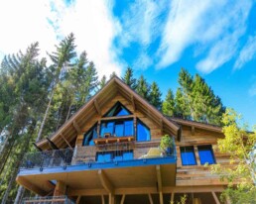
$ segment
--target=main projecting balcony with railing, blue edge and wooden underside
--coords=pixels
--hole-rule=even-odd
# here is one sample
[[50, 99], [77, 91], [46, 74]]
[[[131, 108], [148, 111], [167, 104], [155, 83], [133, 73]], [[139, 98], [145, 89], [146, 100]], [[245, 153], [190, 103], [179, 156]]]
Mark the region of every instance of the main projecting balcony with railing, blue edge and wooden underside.
[[[51, 181], [62, 180], [68, 186], [68, 195], [108, 194], [102, 187], [100, 174], [112, 183], [115, 193], [125, 189], [140, 192], [144, 188], [156, 188], [157, 172], [161, 172], [163, 186], [176, 182], [176, 153], [158, 151], [159, 141], [151, 143], [123, 143], [80, 147], [74, 150], [27, 154], [17, 176], [18, 183], [45, 196], [55, 186]], [[133, 157], [120, 157], [130, 153]], [[90, 153], [90, 154], [89, 154]], [[113, 157], [97, 160], [96, 153], [114, 153]], [[116, 154], [118, 156], [116, 156]]]

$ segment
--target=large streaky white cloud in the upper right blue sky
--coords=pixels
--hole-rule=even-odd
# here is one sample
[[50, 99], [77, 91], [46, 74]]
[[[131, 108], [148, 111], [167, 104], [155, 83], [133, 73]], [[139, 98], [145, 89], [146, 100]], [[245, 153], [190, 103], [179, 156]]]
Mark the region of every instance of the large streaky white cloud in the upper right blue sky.
[[[190, 46], [197, 55], [206, 55], [196, 68], [209, 73], [234, 56], [239, 38], [246, 30], [251, 0], [171, 2], [171, 11], [159, 49], [158, 66], [167, 67], [178, 61]], [[198, 49], [199, 48], [199, 49]], [[203, 52], [202, 52], [203, 51]]]

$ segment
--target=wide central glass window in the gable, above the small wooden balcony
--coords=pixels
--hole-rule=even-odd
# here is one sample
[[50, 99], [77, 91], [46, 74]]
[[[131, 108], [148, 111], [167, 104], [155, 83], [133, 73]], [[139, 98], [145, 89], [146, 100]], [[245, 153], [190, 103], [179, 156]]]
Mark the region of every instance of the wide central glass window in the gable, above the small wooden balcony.
[[116, 137], [126, 137], [134, 135], [133, 120], [118, 120], [101, 123], [100, 136], [105, 134]]

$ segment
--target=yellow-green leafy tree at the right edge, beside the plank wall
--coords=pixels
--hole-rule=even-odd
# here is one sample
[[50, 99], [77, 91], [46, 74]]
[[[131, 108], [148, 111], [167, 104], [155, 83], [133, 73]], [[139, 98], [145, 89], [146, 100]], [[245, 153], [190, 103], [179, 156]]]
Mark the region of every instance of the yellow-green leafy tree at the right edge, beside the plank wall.
[[[232, 167], [212, 165], [212, 173], [220, 175], [221, 180], [228, 182], [228, 188], [222, 197], [229, 197], [232, 203], [256, 202], [256, 131], [249, 133], [246, 126], [238, 126], [239, 116], [232, 109], [227, 109], [223, 115], [224, 139], [219, 139], [217, 148], [220, 153], [230, 155]], [[233, 165], [232, 165], [233, 164]]]

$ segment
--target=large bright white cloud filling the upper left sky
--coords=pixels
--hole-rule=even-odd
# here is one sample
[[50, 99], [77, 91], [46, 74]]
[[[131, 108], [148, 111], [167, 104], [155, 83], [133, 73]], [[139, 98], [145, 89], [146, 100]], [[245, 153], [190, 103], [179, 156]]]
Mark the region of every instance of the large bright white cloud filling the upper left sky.
[[100, 76], [113, 71], [120, 75], [121, 64], [112, 47], [120, 26], [112, 6], [111, 0], [76, 0], [68, 6], [62, 0], [2, 0], [0, 52], [25, 50], [36, 41], [43, 53], [51, 52], [73, 33], [77, 51], [87, 52]]

